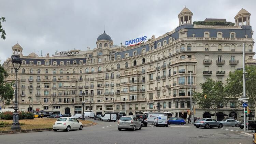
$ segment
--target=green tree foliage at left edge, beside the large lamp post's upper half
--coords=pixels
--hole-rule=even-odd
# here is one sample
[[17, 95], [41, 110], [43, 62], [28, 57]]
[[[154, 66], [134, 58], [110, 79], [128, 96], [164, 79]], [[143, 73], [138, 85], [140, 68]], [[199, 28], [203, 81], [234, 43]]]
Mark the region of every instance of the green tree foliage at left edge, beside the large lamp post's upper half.
[[7, 72], [0, 64], [0, 97], [4, 99], [6, 105], [9, 105], [10, 101], [13, 99], [14, 90], [12, 88], [12, 83], [6, 83], [4, 81], [6, 76]]

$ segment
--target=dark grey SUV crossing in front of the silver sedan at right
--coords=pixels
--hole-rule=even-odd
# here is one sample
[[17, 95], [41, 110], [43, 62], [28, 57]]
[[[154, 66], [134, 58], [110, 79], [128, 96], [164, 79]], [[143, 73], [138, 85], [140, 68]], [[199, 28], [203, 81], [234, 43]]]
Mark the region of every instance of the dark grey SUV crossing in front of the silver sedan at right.
[[208, 129], [212, 127], [222, 128], [223, 124], [220, 121], [217, 121], [213, 118], [200, 118], [195, 121], [194, 126], [196, 126], [196, 128], [204, 127]]

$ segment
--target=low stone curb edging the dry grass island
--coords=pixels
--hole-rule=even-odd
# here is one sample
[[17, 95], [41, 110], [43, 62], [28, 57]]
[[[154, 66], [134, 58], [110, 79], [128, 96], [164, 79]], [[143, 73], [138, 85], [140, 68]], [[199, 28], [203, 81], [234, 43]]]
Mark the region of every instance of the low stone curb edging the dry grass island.
[[[93, 126], [94, 123], [84, 124], [83, 127]], [[45, 129], [21, 129], [21, 130], [3, 130], [0, 131], [0, 134], [13, 134], [13, 133], [27, 133], [27, 132], [41, 132], [41, 131], [50, 131], [53, 128], [45, 128]]]

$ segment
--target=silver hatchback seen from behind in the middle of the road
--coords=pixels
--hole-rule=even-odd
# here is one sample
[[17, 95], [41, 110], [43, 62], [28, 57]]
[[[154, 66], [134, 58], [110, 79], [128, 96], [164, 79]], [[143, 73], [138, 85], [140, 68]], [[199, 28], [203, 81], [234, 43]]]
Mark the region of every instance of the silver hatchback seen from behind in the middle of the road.
[[141, 129], [141, 121], [136, 116], [122, 116], [117, 123], [118, 130], [122, 129]]

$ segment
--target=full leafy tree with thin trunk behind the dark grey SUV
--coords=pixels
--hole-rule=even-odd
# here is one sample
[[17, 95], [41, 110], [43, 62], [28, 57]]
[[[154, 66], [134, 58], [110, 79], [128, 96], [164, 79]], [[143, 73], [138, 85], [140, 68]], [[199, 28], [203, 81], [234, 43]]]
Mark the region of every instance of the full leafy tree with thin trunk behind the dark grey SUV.
[[[215, 82], [211, 78], [207, 78], [207, 81], [200, 84], [202, 87], [201, 92], [195, 92], [194, 98], [198, 99], [199, 107], [203, 109], [213, 109], [214, 110], [214, 118], [216, 119], [216, 109], [218, 105], [223, 103], [226, 95], [224, 92], [224, 86], [221, 82]], [[207, 95], [207, 98], [204, 99], [203, 95]]]

